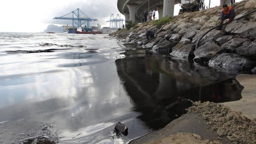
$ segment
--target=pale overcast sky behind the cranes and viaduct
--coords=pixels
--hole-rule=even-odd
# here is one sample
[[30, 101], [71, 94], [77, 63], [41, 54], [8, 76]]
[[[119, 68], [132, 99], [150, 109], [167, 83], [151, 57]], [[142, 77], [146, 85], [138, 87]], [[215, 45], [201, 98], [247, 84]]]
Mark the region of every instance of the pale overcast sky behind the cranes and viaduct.
[[[71, 20], [55, 20], [53, 17], [63, 16], [77, 8], [88, 17], [99, 20], [91, 25], [109, 26], [105, 21], [110, 15], [120, 14], [116, 5], [117, 0], [2, 0], [0, 32], [42, 32], [49, 24], [71, 24]], [[205, 0], [205, 5], [209, 5], [209, 0]], [[220, 1], [211, 0], [211, 7], [216, 5], [220, 5]], [[174, 15], [179, 9], [179, 5], [175, 5]]]

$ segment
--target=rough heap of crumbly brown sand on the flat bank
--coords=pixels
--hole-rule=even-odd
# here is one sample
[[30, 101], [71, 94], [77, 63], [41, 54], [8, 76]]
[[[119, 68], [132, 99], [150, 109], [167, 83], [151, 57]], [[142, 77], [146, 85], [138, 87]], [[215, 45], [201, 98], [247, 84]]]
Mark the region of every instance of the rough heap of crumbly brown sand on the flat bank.
[[241, 112], [232, 111], [222, 104], [195, 102], [188, 113], [202, 116], [220, 137], [227, 136], [231, 142], [239, 144], [256, 144], [256, 122]]

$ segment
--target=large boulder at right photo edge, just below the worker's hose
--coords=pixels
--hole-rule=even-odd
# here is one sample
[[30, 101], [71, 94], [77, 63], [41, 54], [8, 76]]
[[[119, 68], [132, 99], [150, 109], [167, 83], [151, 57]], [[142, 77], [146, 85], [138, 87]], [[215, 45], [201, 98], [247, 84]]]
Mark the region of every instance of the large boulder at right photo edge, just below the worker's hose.
[[226, 33], [232, 33], [242, 38], [254, 39], [256, 38], [256, 22], [242, 23], [232, 21], [232, 23], [225, 26]]

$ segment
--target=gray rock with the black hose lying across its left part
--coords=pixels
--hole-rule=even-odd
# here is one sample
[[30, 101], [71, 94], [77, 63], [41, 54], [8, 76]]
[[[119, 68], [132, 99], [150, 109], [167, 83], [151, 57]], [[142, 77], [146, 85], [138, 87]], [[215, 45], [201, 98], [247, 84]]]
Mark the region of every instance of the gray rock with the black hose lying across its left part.
[[[204, 31], [200, 31], [200, 33], [197, 33], [196, 36], [193, 38], [192, 43], [196, 43], [199, 38], [208, 30], [204, 30]], [[215, 40], [217, 40], [218, 38], [222, 37], [223, 35], [225, 35], [225, 33], [223, 31], [218, 31], [218, 30], [213, 30], [210, 31], [209, 33], [207, 33], [201, 40], [199, 43], [200, 45], [204, 45], [206, 42], [213, 42]]]

